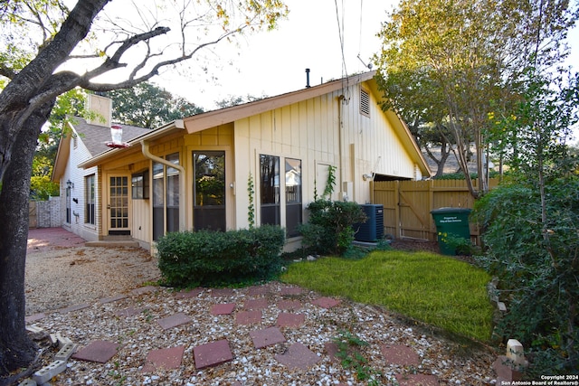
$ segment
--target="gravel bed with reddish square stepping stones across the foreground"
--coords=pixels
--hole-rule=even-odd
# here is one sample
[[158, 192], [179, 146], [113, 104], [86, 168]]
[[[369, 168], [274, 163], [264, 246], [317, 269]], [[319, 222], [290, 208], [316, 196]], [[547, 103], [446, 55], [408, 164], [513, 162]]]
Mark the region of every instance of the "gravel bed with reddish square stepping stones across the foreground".
[[[88, 253], [84, 247], [75, 248]], [[120, 253], [122, 259], [128, 259], [130, 250]], [[76, 252], [59, 249], [59, 253], [60, 259], [67, 259]], [[87, 267], [101, 266], [98, 254], [87, 259], [99, 262]], [[144, 274], [140, 259], [125, 260], [128, 276], [132, 267], [140, 267], [143, 278], [154, 276]], [[154, 268], [151, 262], [150, 273]], [[98, 287], [107, 287], [106, 276]], [[85, 273], [81, 283], [97, 277]], [[29, 305], [34, 310], [27, 317], [29, 326], [48, 336], [59, 334], [75, 345], [75, 353], [63, 361], [64, 368], [59, 364], [48, 384], [403, 386], [496, 381], [495, 353], [432, 334], [375, 306], [280, 282], [176, 292], [127, 281], [124, 289], [111, 283], [113, 289], [97, 292], [96, 297], [80, 291], [82, 296], [68, 305]], [[75, 279], [68, 284], [82, 286]], [[41, 288], [32, 285], [27, 290], [35, 299]], [[364, 359], [361, 367], [348, 366], [337, 349], [336, 339], [345, 332], [367, 343], [357, 348]], [[62, 349], [50, 339], [41, 339], [39, 345], [43, 366], [49, 366]], [[365, 375], [370, 378], [362, 379]]]

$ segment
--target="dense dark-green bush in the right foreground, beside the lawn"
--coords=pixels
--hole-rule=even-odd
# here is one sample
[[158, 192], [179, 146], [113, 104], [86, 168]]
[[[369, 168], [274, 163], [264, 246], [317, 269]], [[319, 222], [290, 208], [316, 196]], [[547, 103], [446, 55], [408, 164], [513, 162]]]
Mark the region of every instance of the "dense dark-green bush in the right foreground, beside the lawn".
[[499, 279], [508, 313], [498, 334], [529, 351], [529, 376], [579, 371], [579, 179], [500, 186], [477, 202], [486, 254], [479, 263]]

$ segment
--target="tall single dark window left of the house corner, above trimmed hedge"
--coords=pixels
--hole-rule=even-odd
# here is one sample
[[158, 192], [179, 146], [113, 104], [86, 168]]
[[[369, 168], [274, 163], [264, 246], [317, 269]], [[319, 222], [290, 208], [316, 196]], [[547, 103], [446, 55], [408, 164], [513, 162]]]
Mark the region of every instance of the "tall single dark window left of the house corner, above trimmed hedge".
[[225, 231], [225, 152], [193, 152], [195, 231]]

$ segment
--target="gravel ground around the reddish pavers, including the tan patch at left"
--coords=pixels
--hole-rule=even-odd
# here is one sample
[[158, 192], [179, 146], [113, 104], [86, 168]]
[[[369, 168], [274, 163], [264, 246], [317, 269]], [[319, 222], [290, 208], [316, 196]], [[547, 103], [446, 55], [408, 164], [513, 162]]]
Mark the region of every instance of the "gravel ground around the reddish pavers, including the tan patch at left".
[[[281, 297], [278, 282], [265, 285], [263, 295], [252, 288], [235, 289], [216, 296], [204, 288], [196, 297], [180, 298], [169, 288], [156, 287], [148, 293], [131, 292], [143, 282], [159, 277], [155, 259], [140, 249], [42, 248], [27, 257], [27, 315], [44, 313], [31, 322], [51, 334], [70, 338], [79, 348], [103, 340], [119, 344], [117, 354], [106, 363], [70, 360], [67, 370], [52, 385], [365, 385], [356, 374], [327, 355], [325, 344], [342, 331], [350, 331], [368, 346], [362, 354], [366, 365], [379, 372], [377, 384], [408, 383], [413, 374], [433, 374], [441, 385], [487, 385], [495, 383], [491, 363], [496, 354], [474, 344], [458, 344], [421, 325], [391, 315], [384, 309], [340, 299], [338, 306], [326, 309], [312, 300], [320, 297], [303, 289], [301, 294]], [[104, 303], [100, 299], [124, 294], [126, 297]], [[216, 304], [235, 303], [242, 310], [248, 299], [265, 297], [261, 323], [237, 325], [233, 315], [212, 315]], [[255, 349], [250, 332], [275, 325], [280, 300], [297, 300], [305, 315], [299, 327], [280, 327], [286, 343]], [[59, 312], [66, 306], [86, 304], [81, 310]], [[135, 315], [120, 315], [136, 310]], [[176, 313], [192, 322], [164, 330], [158, 320]], [[193, 350], [200, 344], [227, 339], [233, 361], [216, 367], [195, 368]], [[289, 368], [275, 359], [291, 344], [305, 344], [320, 361], [306, 370]], [[419, 355], [419, 364], [399, 366], [384, 360], [381, 347], [403, 344]], [[48, 341], [39, 342], [43, 365], [52, 361], [57, 349]], [[151, 350], [185, 346], [181, 366], [175, 370], [143, 372]], [[396, 374], [398, 379], [396, 381]], [[401, 378], [402, 377], [402, 378]]]

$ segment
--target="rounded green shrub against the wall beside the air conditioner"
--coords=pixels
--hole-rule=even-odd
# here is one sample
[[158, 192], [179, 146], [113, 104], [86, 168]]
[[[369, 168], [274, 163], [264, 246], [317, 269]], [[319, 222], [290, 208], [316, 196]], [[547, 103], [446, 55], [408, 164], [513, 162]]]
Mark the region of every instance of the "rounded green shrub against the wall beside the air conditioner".
[[308, 204], [309, 220], [300, 225], [302, 242], [321, 255], [342, 255], [354, 240], [352, 225], [366, 221], [356, 202], [317, 200]]

